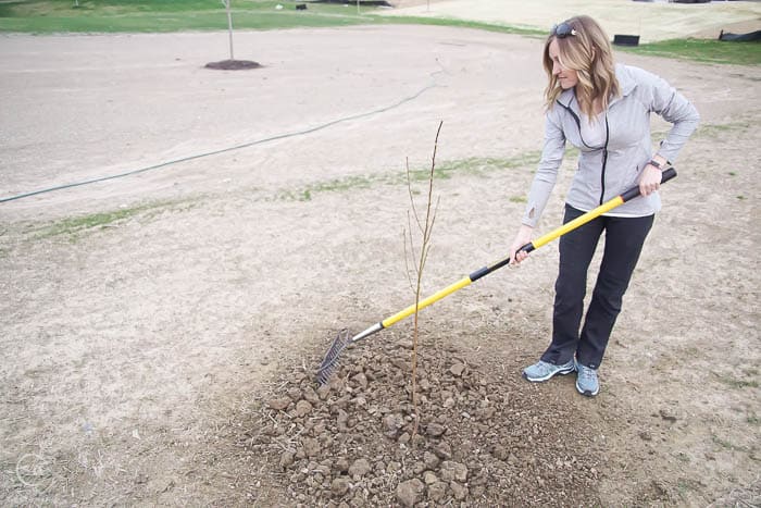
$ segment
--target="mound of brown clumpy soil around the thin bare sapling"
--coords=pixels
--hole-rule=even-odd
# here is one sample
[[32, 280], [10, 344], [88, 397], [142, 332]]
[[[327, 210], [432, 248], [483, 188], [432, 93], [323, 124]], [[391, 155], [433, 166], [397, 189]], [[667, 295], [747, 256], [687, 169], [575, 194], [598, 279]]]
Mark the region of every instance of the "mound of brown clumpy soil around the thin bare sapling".
[[253, 467], [295, 504], [600, 504], [601, 454], [566, 404], [494, 359], [420, 349], [416, 408], [408, 342], [345, 351], [321, 387], [311, 372], [283, 375], [254, 411], [262, 425], [239, 436]]

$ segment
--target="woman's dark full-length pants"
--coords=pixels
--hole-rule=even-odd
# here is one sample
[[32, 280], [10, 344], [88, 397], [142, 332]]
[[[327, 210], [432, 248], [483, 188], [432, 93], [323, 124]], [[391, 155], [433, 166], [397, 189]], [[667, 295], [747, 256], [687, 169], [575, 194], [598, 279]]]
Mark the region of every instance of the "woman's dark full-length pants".
[[[563, 223], [583, 213], [566, 205]], [[561, 364], [571, 360], [575, 354], [579, 363], [592, 369], [600, 367], [615, 319], [621, 312], [624, 293], [652, 222], [653, 215], [599, 216], [560, 237], [560, 271], [554, 284], [552, 343], [541, 356], [544, 361]], [[603, 231], [606, 246], [600, 272], [579, 335], [587, 271]]]

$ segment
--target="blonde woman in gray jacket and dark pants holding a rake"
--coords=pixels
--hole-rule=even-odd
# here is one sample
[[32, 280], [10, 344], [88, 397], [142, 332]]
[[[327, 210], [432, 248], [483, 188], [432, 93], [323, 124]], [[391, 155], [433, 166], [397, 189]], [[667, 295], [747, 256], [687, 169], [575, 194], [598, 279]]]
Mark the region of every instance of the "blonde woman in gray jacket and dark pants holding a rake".
[[[544, 65], [549, 84], [541, 161], [528, 194], [522, 225], [511, 247], [532, 240], [556, 183], [565, 141], [581, 150], [566, 196], [563, 222], [572, 221], [634, 185], [641, 197], [627, 201], [560, 238], [552, 342], [523, 376], [532, 382], [576, 371], [576, 389], [592, 397], [598, 369], [653, 216], [660, 210], [661, 170], [676, 159], [698, 125], [695, 107], [663, 79], [641, 69], [614, 64], [612, 48], [589, 16], [556, 25], [547, 38]], [[650, 113], [672, 123], [653, 153]], [[581, 330], [587, 270], [602, 232], [604, 252]], [[650, 305], [650, 303], [648, 303]]]

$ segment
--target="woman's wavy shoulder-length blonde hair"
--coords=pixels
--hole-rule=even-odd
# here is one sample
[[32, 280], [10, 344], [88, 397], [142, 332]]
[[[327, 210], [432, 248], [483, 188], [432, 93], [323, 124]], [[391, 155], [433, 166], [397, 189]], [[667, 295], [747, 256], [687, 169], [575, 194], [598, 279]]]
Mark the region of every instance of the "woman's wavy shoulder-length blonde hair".
[[549, 78], [545, 90], [547, 109], [551, 109], [563, 89], [559, 79], [552, 74], [550, 44], [558, 41], [560, 62], [565, 69], [576, 71], [576, 99], [587, 116], [594, 116], [594, 102], [599, 100], [607, 109], [610, 100], [621, 95], [621, 87], [615, 77], [613, 48], [602, 27], [589, 16], [575, 16], [567, 21], [575, 35], [558, 37], [554, 30], [545, 42], [542, 63]]

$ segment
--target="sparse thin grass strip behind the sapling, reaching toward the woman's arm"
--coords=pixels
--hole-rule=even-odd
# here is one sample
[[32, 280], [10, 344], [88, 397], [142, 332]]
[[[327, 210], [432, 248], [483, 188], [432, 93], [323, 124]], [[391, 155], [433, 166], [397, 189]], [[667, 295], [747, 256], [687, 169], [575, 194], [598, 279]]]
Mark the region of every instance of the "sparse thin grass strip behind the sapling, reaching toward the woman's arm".
[[[436, 166], [434, 177], [449, 179], [453, 176], [476, 175], [486, 176], [504, 170], [513, 170], [534, 165], [539, 160], [539, 152], [531, 151], [510, 159], [479, 158], [446, 161]], [[431, 169], [410, 169], [410, 181], [427, 182]], [[275, 195], [277, 200], [309, 201], [321, 193], [345, 193], [355, 189], [366, 189], [376, 185], [407, 185], [407, 172], [375, 173], [369, 175], [349, 175], [340, 178], [332, 178], [325, 182], [316, 182], [299, 189], [284, 189]], [[414, 190], [414, 189], [413, 189]], [[525, 198], [524, 198], [525, 200]]]

